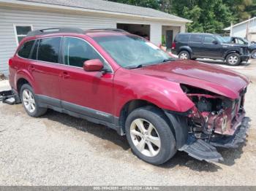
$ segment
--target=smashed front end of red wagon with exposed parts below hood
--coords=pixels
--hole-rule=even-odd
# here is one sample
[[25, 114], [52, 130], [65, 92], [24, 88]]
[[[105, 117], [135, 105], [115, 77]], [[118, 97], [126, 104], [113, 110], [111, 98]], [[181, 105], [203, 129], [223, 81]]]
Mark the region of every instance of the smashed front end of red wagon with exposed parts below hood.
[[249, 118], [244, 111], [246, 88], [236, 99], [189, 85], [181, 85], [181, 88], [195, 106], [187, 114], [187, 144], [179, 150], [198, 160], [223, 160], [216, 147], [237, 148], [246, 139], [249, 128]]

